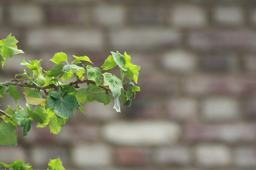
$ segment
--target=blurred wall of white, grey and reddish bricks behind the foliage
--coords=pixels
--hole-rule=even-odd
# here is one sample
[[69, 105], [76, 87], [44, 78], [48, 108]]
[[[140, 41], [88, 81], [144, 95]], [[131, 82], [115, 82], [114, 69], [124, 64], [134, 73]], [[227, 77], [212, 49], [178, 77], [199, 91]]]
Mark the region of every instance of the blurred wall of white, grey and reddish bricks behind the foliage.
[[[7, 59], [0, 82], [26, 61], [55, 53], [90, 57], [110, 51], [141, 66], [136, 99], [116, 113], [84, 104], [58, 135], [32, 125], [0, 162], [25, 160], [66, 170], [256, 169], [255, 0], [1, 0], [0, 39], [12, 33], [25, 54]], [[25, 100], [19, 104], [24, 106]], [[11, 98], [1, 109], [15, 108]]]

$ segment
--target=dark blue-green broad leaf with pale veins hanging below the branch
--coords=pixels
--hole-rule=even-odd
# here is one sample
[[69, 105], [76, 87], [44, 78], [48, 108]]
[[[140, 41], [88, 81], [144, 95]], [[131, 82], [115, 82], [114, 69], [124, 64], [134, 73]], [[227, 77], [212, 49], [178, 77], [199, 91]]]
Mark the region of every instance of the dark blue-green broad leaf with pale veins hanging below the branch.
[[48, 94], [45, 108], [52, 109], [56, 115], [65, 120], [73, 116], [73, 110], [77, 110], [77, 100], [74, 95], [54, 98]]

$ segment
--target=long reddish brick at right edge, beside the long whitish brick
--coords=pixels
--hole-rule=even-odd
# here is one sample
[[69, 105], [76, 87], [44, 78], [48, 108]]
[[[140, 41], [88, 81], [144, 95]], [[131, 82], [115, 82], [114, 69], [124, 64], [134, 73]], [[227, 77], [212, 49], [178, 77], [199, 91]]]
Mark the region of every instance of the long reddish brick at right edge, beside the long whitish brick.
[[222, 141], [227, 143], [248, 142], [256, 140], [256, 126], [250, 123], [229, 124], [188, 124], [184, 127], [184, 140]]

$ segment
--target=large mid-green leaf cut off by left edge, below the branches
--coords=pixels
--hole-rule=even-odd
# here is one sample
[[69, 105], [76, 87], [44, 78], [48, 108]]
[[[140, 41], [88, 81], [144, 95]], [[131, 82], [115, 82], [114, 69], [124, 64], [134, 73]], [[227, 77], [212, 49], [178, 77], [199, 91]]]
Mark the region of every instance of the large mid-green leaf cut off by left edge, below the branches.
[[0, 123], [0, 145], [17, 145], [17, 135], [14, 133], [14, 130], [15, 127], [11, 123]]

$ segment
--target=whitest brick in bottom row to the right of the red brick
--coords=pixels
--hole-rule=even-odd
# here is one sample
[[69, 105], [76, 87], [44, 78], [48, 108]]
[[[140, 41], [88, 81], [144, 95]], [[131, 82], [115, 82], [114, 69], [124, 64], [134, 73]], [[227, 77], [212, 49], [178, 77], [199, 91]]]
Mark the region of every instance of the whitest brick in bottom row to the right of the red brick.
[[200, 145], [196, 147], [196, 162], [199, 166], [227, 166], [231, 162], [230, 150], [223, 145]]

